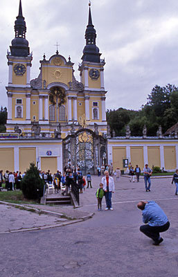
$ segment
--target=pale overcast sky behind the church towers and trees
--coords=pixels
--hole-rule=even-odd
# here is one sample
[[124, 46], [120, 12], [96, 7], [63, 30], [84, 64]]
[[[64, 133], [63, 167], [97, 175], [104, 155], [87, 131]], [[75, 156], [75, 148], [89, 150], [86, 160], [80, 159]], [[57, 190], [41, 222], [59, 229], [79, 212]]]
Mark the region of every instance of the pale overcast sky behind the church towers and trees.
[[[78, 63], [85, 45], [88, 0], [21, 0], [26, 39], [33, 51], [31, 79], [39, 74], [39, 60], [55, 54]], [[7, 106], [7, 49], [15, 37], [19, 0], [1, 0], [0, 105]], [[107, 109], [140, 109], [155, 84], [178, 86], [177, 0], [92, 0], [96, 45], [105, 57]]]

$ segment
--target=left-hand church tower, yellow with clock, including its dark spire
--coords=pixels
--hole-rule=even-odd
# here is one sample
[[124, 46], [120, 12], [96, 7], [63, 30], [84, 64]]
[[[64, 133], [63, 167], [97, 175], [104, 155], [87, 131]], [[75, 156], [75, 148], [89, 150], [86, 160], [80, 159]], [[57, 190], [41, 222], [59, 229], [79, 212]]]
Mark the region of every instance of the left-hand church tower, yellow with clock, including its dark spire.
[[15, 125], [30, 123], [30, 66], [33, 59], [26, 39], [26, 21], [22, 14], [21, 0], [19, 15], [15, 21], [15, 38], [12, 39], [8, 58], [8, 120], [7, 132]]

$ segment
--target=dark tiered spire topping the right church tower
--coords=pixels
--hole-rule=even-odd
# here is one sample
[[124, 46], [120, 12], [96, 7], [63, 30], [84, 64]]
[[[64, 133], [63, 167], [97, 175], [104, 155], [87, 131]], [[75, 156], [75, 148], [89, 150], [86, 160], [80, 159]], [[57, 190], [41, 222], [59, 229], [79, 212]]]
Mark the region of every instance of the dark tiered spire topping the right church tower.
[[89, 1], [89, 21], [84, 37], [86, 39], [86, 46], [84, 46], [82, 60], [84, 62], [100, 62], [101, 54], [96, 46], [96, 30], [91, 17], [91, 1]]

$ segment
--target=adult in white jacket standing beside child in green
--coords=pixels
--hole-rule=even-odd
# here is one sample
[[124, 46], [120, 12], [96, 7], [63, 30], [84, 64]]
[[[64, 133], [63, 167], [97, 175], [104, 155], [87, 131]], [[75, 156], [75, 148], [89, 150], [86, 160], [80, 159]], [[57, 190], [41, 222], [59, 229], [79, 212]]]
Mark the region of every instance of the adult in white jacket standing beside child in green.
[[112, 208], [112, 193], [114, 193], [114, 179], [109, 176], [109, 172], [105, 170], [105, 177], [101, 179], [101, 183], [103, 184], [103, 190], [105, 190], [105, 200], [106, 200], [106, 208], [105, 211], [111, 210]]

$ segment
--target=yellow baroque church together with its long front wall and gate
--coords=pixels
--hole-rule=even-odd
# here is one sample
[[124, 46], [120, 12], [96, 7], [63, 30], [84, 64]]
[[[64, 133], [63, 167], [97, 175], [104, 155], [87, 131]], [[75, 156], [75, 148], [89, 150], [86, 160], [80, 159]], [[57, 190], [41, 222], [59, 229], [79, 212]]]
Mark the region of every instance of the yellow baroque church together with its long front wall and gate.
[[[178, 168], [177, 137], [115, 138], [107, 127], [104, 84], [105, 60], [96, 46], [96, 30], [89, 6], [86, 45], [75, 79], [71, 57], [58, 51], [39, 61], [39, 75], [31, 80], [33, 55], [26, 39], [26, 21], [19, 0], [15, 38], [8, 51], [8, 120], [0, 134], [0, 169], [26, 171], [31, 162], [40, 170], [62, 172], [64, 166], [80, 166], [84, 174], [113, 163], [124, 168], [127, 159], [141, 168]], [[119, 106], [119, 103], [118, 103]]]

